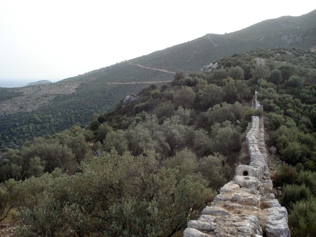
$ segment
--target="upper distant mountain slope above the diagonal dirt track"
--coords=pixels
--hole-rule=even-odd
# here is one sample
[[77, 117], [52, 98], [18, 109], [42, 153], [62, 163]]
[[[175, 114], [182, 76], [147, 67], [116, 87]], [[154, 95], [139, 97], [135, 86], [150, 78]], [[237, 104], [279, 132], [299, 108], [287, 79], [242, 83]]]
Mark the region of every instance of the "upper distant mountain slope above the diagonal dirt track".
[[233, 33], [206, 34], [131, 61], [189, 72], [234, 53], [276, 46], [308, 50], [315, 45], [316, 10], [313, 10], [302, 16], [283, 16], [262, 21]]

